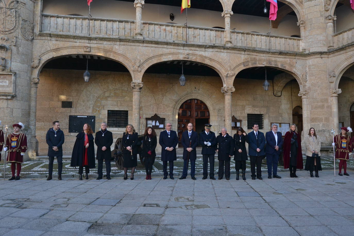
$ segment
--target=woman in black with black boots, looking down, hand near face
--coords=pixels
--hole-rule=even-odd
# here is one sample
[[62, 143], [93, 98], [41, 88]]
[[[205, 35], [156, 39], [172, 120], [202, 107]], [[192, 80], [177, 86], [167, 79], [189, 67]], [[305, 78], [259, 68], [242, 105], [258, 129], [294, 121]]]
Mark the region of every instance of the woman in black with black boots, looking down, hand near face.
[[234, 143], [235, 143], [235, 152], [234, 152], [234, 161], [235, 161], [235, 169], [236, 169], [236, 180], [240, 178], [240, 168], [242, 165], [242, 179], [246, 180], [246, 161], [247, 158], [247, 150], [246, 150], [246, 142], [248, 143], [248, 135], [239, 127], [234, 134]]

